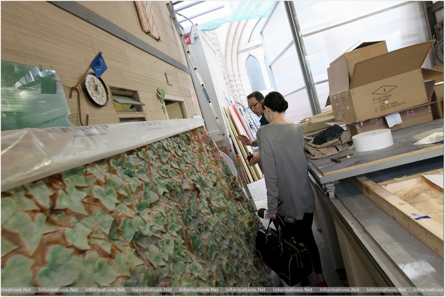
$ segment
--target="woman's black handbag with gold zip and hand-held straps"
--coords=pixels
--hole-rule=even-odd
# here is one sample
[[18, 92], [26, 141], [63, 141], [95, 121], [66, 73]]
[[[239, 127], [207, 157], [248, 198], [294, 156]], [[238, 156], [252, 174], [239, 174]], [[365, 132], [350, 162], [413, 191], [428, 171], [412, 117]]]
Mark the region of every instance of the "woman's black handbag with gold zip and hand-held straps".
[[[284, 226], [283, 220], [278, 215], [277, 220]], [[312, 273], [311, 255], [302, 246], [292, 244], [282, 238], [281, 223], [277, 224], [277, 232], [269, 230], [271, 222], [272, 220], [267, 230], [258, 230], [256, 234], [256, 255], [287, 285], [296, 285]]]

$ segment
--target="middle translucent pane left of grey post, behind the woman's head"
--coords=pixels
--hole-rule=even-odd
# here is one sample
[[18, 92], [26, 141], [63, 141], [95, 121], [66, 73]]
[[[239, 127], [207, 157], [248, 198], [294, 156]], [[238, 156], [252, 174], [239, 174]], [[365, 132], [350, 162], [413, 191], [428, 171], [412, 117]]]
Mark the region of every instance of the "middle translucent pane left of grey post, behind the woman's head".
[[291, 46], [271, 65], [277, 89], [283, 96], [304, 87], [303, 74], [295, 46]]

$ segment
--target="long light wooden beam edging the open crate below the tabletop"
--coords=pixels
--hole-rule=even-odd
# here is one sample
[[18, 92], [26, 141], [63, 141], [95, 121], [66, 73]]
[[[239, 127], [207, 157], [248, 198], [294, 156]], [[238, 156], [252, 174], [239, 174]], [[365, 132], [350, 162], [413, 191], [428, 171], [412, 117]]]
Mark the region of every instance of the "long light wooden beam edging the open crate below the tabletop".
[[370, 179], [359, 175], [348, 178], [353, 186], [360, 190], [372, 202], [409, 230], [426, 246], [442, 258], [444, 257], [444, 226], [431, 218], [415, 220], [409, 216], [418, 212], [409, 203], [396, 197]]

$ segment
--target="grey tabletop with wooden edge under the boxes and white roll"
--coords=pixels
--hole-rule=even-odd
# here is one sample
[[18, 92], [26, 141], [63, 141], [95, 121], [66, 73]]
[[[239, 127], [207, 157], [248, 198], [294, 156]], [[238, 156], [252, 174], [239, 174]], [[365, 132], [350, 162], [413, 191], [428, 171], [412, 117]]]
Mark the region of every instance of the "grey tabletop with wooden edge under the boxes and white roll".
[[[377, 165], [384, 162], [390, 162], [400, 158], [419, 155], [429, 151], [443, 150], [443, 143], [428, 145], [413, 145], [417, 141], [431, 135], [433, 132], [441, 132], [444, 129], [444, 120], [437, 119], [427, 123], [422, 123], [412, 127], [407, 127], [392, 131], [392, 139], [394, 144], [381, 150], [373, 150], [366, 152], [357, 152], [354, 149], [344, 150], [339, 154], [330, 156], [329, 158], [308, 159], [311, 165], [320, 171], [320, 176], [329, 176], [332, 174], [349, 172], [354, 176], [353, 170], [361, 169], [367, 166]], [[343, 154], [354, 154], [350, 159], [344, 159], [340, 163], [335, 163], [330, 158], [336, 158]], [[417, 157], [418, 160], [418, 157]], [[417, 161], [415, 160], [415, 161]], [[359, 174], [363, 174], [361, 170]], [[348, 174], [346, 174], [348, 175]]]

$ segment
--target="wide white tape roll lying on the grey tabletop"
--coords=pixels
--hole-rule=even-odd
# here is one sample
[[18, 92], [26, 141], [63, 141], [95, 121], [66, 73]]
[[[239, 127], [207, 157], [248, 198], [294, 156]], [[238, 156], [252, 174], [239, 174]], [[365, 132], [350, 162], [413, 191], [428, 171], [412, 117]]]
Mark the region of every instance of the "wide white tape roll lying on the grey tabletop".
[[352, 136], [356, 151], [380, 150], [394, 144], [390, 129], [379, 129]]

